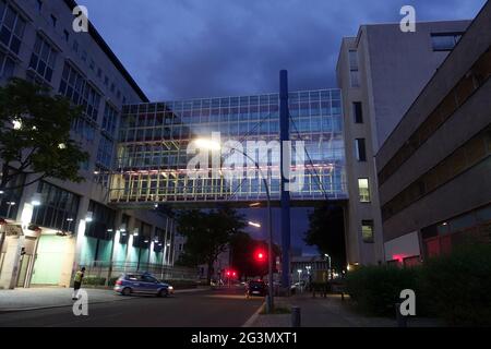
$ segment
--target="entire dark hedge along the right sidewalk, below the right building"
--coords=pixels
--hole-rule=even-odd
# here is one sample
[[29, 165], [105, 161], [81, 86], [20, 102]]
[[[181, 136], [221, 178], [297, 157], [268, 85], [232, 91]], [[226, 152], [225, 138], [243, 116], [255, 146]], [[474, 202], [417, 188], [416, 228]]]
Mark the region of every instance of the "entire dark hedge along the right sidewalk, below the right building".
[[370, 315], [395, 314], [399, 292], [416, 292], [418, 316], [448, 325], [491, 325], [491, 244], [466, 245], [417, 267], [363, 266], [348, 273], [347, 292]]

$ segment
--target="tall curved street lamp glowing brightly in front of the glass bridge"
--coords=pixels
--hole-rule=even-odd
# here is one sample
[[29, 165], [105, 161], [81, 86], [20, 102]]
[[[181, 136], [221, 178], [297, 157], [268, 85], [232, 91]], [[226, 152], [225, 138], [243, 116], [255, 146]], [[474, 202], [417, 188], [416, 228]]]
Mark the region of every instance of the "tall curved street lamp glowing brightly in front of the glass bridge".
[[[216, 141], [213, 140], [206, 140], [206, 139], [197, 139], [194, 141], [194, 144], [199, 148], [204, 148], [208, 151], [220, 151], [221, 144], [219, 144]], [[267, 197], [267, 230], [268, 230], [268, 239], [270, 243], [267, 246], [267, 255], [270, 258], [267, 260], [267, 269], [268, 269], [268, 276], [267, 276], [267, 282], [268, 282], [268, 296], [266, 298], [266, 305], [270, 312], [273, 311], [274, 308], [274, 288], [273, 288], [273, 224], [272, 224], [272, 208], [271, 208], [271, 194], [270, 194], [270, 185], [267, 184], [266, 177], [263, 173], [263, 170], [259, 166], [258, 161], [253, 159], [251, 156], [247, 155], [243, 151], [238, 149], [236, 147], [228, 147], [230, 151], [238, 152], [246, 156], [249, 160], [251, 160], [255, 168], [258, 169], [259, 173], [261, 174], [261, 179], [264, 183], [264, 188], [266, 189], [266, 197]]]

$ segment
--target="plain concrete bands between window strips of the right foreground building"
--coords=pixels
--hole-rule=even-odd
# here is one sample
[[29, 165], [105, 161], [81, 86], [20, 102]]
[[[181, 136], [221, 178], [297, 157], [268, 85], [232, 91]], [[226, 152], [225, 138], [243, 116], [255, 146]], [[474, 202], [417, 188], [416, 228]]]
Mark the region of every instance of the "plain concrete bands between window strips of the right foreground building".
[[[491, 45], [491, 3], [488, 2], [460, 43], [439, 68], [376, 156], [382, 169], [414, 131], [434, 110], [474, 62]], [[434, 167], [471, 136], [490, 124], [491, 82], [488, 80], [380, 188], [381, 204]], [[445, 220], [490, 202], [491, 160], [468, 169], [384, 221], [385, 239]]]

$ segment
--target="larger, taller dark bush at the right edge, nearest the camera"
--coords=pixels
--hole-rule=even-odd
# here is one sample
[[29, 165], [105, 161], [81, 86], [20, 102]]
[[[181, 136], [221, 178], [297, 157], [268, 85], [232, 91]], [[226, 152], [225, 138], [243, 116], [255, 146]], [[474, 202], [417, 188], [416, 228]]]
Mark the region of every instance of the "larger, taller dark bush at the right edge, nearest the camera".
[[431, 313], [450, 325], [491, 326], [490, 244], [462, 246], [426, 261], [421, 286]]

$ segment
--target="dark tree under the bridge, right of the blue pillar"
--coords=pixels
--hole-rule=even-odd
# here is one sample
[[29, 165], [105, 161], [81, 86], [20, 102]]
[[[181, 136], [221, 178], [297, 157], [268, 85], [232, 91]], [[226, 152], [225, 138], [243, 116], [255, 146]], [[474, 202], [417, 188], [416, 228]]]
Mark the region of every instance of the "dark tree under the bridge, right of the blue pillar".
[[333, 268], [343, 268], [346, 265], [343, 207], [327, 203], [314, 207], [309, 214], [309, 230], [303, 241], [315, 245], [322, 255], [327, 253]]

